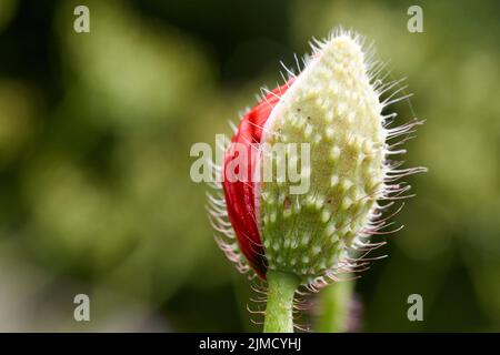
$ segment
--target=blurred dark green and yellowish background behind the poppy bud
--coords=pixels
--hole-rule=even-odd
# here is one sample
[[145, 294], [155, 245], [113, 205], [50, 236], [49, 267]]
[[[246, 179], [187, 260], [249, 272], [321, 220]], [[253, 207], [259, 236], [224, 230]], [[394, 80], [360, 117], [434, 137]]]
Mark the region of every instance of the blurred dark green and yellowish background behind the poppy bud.
[[[73, 31], [77, 4], [90, 33]], [[423, 33], [407, 30], [411, 4]], [[390, 257], [354, 286], [357, 328], [500, 331], [499, 13], [493, 0], [0, 0], [0, 331], [259, 331], [189, 150], [339, 24], [408, 77], [400, 122], [427, 120], [407, 160], [429, 173], [410, 179]], [[423, 322], [407, 318], [412, 293]]]

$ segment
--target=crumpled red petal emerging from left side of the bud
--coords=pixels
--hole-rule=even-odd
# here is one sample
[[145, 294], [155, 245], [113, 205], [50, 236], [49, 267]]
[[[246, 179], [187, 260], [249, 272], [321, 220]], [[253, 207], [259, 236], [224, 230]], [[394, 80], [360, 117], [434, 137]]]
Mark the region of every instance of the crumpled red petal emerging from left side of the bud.
[[257, 162], [256, 150], [262, 136], [262, 126], [266, 124], [272, 109], [279, 102], [279, 98], [289, 89], [293, 80], [287, 84], [274, 89], [268, 93], [242, 119], [238, 126], [238, 132], [232, 138], [232, 142], [241, 143], [247, 151], [248, 165], [246, 170], [247, 181], [231, 182], [228, 179], [226, 166], [238, 158], [234, 151], [228, 149], [224, 155], [223, 165], [223, 190], [228, 206], [229, 220], [234, 229], [241, 252], [247, 257], [250, 266], [256, 273], [266, 278], [267, 261], [258, 227], [258, 216], [256, 215], [252, 172]]

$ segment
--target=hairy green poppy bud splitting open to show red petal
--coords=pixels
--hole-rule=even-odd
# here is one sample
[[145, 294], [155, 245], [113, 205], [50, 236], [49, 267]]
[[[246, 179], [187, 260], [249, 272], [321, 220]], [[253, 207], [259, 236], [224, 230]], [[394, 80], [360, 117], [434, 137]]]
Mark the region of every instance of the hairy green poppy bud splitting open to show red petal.
[[[370, 235], [384, 233], [379, 202], [403, 197], [409, 186], [394, 181], [423, 170], [398, 170], [388, 159], [404, 152], [388, 141], [420, 122], [388, 126], [394, 114], [382, 109], [406, 97], [393, 100], [397, 90], [382, 101], [399, 82], [382, 84], [380, 70], [358, 36], [339, 31], [317, 42], [303, 70], [242, 116], [221, 166], [223, 200], [210, 200], [226, 236], [219, 244], [241, 271], [261, 278], [277, 271], [317, 290], [364, 265], [356, 256], [377, 246]], [[290, 150], [284, 155], [299, 164], [307, 191], [293, 193], [289, 180], [257, 179], [276, 144], [307, 144], [306, 159]]]

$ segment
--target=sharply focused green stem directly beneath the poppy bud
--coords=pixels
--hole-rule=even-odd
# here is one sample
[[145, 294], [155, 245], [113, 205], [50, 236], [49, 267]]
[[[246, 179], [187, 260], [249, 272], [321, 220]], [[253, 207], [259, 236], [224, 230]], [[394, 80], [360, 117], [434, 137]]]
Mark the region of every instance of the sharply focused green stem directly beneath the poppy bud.
[[264, 333], [293, 333], [293, 295], [299, 286], [296, 275], [268, 271], [268, 304]]

